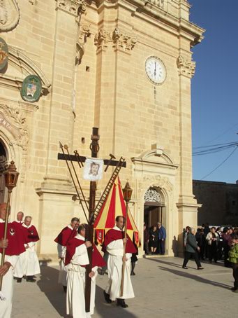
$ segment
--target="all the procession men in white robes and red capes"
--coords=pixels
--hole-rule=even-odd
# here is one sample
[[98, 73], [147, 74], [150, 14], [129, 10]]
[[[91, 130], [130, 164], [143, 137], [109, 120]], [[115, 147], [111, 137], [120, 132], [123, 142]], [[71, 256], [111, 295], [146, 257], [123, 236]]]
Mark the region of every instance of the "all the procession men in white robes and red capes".
[[[3, 237], [4, 233], [6, 208], [6, 203], [0, 204], [0, 237]], [[131, 264], [135, 261], [132, 256], [137, 254], [131, 238], [128, 235], [124, 237], [124, 225], [124, 216], [117, 216], [114, 228], [107, 231], [103, 242], [103, 251], [107, 251], [108, 256], [108, 282], [103, 292], [105, 301], [109, 304], [116, 301], [122, 308], [128, 307], [126, 299], [134, 297]], [[0, 266], [0, 279], [3, 283], [1, 286], [0, 280], [0, 318], [11, 316], [13, 278], [17, 283], [21, 283], [22, 278], [32, 283], [36, 282], [35, 275], [40, 273], [36, 255], [36, 242], [39, 237], [35, 226], [31, 224], [31, 216], [24, 218], [23, 212], [17, 213], [17, 220], [9, 222], [6, 229], [6, 240], [0, 240], [0, 261], [5, 250], [3, 265]], [[55, 239], [60, 261], [59, 282], [66, 292], [66, 312], [75, 318], [89, 318], [94, 313], [96, 276], [98, 268], [104, 268], [106, 265], [96, 245], [85, 238], [86, 230], [87, 224], [81, 224], [80, 219], [73, 218], [70, 225], [63, 228]], [[89, 272], [88, 249], [92, 251]], [[91, 293], [87, 305], [84, 296], [89, 277]]]

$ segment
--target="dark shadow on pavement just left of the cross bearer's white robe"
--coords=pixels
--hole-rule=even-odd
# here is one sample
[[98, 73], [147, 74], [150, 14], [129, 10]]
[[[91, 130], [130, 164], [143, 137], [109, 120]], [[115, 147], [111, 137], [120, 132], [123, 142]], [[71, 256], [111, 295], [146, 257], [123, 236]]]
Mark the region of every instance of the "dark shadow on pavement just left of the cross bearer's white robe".
[[40, 280], [37, 282], [40, 291], [45, 293], [60, 317], [67, 317], [66, 293], [64, 293], [63, 287], [58, 284], [59, 270], [49, 266], [41, 266], [40, 272]]

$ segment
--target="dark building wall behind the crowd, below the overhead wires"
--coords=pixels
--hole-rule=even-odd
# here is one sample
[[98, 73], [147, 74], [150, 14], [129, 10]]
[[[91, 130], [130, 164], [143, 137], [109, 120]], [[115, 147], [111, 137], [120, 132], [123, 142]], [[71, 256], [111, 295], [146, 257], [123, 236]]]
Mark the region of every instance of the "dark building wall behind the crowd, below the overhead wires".
[[198, 225], [238, 226], [238, 183], [193, 180], [193, 193], [202, 206]]

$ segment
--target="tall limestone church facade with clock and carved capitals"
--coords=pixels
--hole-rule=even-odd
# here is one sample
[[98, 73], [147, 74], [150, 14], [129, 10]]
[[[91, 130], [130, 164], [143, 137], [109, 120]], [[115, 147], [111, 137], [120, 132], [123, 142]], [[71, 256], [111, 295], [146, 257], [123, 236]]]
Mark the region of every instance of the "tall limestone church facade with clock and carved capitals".
[[[20, 179], [11, 219], [33, 217], [38, 254], [71, 217], [84, 217], [59, 141], [90, 157], [126, 158], [121, 184], [133, 188], [135, 223], [162, 221], [166, 254], [185, 226], [197, 225], [191, 167], [191, 48], [204, 29], [189, 21], [186, 0], [4, 0], [0, 4], [1, 172], [15, 160]], [[112, 168], [98, 181], [96, 198]], [[78, 171], [82, 179], [82, 172]], [[89, 197], [89, 182], [82, 181]], [[6, 198], [3, 177], [1, 200]], [[143, 239], [143, 237], [142, 237]], [[142, 253], [142, 251], [140, 251]]]

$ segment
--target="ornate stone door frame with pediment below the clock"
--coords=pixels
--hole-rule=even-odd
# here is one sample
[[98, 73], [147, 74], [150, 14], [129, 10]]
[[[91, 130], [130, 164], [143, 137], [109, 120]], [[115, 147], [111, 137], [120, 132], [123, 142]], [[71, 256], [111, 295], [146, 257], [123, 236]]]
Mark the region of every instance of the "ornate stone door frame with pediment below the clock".
[[[144, 225], [144, 195], [149, 188], [158, 188], [163, 195], [165, 205], [163, 223], [167, 230], [166, 254], [173, 256], [174, 254], [170, 247], [172, 247], [172, 239], [174, 235], [177, 235], [178, 231], [177, 207], [174, 200], [175, 175], [178, 165], [175, 165], [172, 158], [159, 146], [156, 146], [151, 151], [142, 153], [137, 158], [131, 158], [131, 160], [134, 164], [134, 215], [140, 233], [143, 233]], [[143, 254], [142, 249], [140, 250], [140, 255]]]

